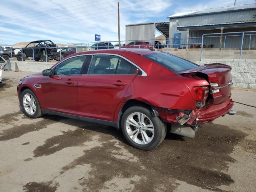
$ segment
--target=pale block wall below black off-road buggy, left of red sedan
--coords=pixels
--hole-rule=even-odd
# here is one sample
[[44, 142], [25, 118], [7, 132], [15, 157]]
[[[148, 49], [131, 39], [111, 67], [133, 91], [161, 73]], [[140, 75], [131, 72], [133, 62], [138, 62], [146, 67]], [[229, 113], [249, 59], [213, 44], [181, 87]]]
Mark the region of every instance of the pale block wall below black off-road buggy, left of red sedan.
[[44, 69], [49, 69], [56, 62], [11, 61], [12, 70], [15, 70], [15, 63], [17, 63], [20, 71], [42, 72]]

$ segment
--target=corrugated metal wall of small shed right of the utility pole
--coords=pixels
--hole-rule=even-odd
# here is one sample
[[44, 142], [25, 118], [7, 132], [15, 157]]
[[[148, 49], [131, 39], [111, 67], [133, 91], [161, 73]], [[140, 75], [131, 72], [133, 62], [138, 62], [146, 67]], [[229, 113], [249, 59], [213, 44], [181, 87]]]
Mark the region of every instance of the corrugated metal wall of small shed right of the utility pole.
[[155, 39], [155, 23], [126, 25], [126, 44], [134, 40], [151, 40], [154, 44]]

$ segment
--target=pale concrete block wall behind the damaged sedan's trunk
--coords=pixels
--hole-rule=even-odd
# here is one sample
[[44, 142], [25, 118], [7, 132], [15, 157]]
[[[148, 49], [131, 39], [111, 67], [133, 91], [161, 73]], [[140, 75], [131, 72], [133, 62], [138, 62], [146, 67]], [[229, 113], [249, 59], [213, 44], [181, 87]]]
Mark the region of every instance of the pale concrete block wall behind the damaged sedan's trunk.
[[203, 59], [196, 64], [222, 63], [232, 67], [235, 88], [256, 89], [256, 59]]

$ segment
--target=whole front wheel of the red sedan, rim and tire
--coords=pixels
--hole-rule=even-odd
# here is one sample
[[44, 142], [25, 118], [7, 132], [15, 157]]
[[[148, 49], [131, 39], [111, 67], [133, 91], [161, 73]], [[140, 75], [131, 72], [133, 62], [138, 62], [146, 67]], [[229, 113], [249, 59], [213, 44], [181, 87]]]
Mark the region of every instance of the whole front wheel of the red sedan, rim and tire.
[[20, 103], [23, 113], [30, 118], [39, 118], [42, 116], [42, 111], [36, 98], [36, 95], [30, 90], [25, 89], [20, 97]]

